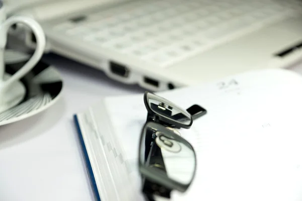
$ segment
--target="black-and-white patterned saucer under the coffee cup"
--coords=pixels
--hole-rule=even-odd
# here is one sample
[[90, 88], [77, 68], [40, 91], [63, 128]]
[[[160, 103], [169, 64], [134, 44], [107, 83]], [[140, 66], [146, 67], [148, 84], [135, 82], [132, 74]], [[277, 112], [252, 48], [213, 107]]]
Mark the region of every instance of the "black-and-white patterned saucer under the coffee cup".
[[[14, 51], [9, 51], [10, 54], [5, 54], [7, 77], [14, 74], [30, 58], [30, 55], [15, 51], [16, 60], [14, 61]], [[9, 58], [6, 55], [9, 55]], [[11, 93], [13, 90], [10, 90], [12, 95], [8, 99], [14, 101], [6, 105], [9, 109], [0, 112], [0, 126], [29, 118], [51, 107], [61, 96], [63, 81], [60, 73], [41, 59], [12, 87], [16, 91]]]

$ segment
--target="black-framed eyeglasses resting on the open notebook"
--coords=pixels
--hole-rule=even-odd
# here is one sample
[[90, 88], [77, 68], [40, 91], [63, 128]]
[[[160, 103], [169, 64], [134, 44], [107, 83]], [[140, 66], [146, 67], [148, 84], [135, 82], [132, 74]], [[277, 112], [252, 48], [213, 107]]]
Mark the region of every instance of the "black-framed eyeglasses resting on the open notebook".
[[176, 129], [189, 129], [207, 111], [198, 105], [183, 110], [169, 100], [146, 91], [147, 120], [139, 143], [139, 173], [147, 200], [154, 195], [170, 198], [172, 190], [184, 192], [196, 170], [196, 155]]

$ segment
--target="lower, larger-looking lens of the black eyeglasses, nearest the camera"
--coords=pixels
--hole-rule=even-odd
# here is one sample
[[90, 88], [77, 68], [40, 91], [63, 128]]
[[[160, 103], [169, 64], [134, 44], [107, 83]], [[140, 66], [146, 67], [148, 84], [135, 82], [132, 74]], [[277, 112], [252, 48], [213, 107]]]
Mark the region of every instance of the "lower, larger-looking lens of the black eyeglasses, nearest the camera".
[[159, 184], [167, 181], [174, 185], [191, 183], [196, 168], [195, 152], [182, 137], [160, 124], [149, 122], [143, 129], [140, 145], [140, 168], [144, 169], [145, 176]]

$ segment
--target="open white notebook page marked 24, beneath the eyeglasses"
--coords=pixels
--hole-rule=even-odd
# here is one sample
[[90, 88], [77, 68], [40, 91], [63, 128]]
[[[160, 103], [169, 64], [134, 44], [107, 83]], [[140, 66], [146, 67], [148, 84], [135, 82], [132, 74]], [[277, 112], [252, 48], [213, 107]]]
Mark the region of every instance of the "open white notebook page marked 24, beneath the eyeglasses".
[[[280, 149], [281, 143], [286, 140], [286, 148], [293, 145], [292, 139], [302, 142], [297, 136], [297, 132], [302, 130], [297, 117], [302, 112], [300, 107], [297, 108], [302, 103], [297, 93], [302, 88], [301, 78], [277, 70], [244, 74], [233, 79], [236, 84], [228, 87], [221, 87], [219, 81], [158, 93], [183, 108], [199, 104], [208, 111], [206, 116], [193, 123], [191, 129], [180, 131], [197, 153], [198, 169], [190, 189], [183, 194], [174, 192], [173, 200], [194, 198], [196, 193], [203, 200], [221, 200], [226, 197], [230, 200], [301, 199], [296, 191], [302, 187], [300, 169], [297, 169], [301, 161], [295, 161], [296, 164], [292, 161], [300, 157], [297, 153], [302, 153], [302, 150], [297, 145], [287, 149], [288, 152]], [[233, 79], [226, 80], [232, 83]], [[104, 101], [111, 124], [114, 125], [114, 135], [122, 145], [122, 152], [135, 166], [139, 134], [146, 118], [143, 96], [108, 97]], [[283, 107], [286, 110], [280, 110]], [[97, 112], [97, 108], [93, 110]], [[286, 117], [296, 118], [287, 122]], [[292, 122], [295, 127], [289, 126]], [[292, 132], [291, 138], [284, 139], [285, 132]], [[272, 135], [279, 138], [272, 139]], [[259, 141], [260, 136], [266, 137]], [[271, 144], [270, 140], [275, 141]], [[273, 151], [265, 151], [267, 148]], [[283, 158], [269, 157], [270, 153], [276, 152], [283, 153]], [[288, 154], [293, 158], [287, 159], [285, 156]], [[291, 163], [282, 165], [280, 161]], [[284, 178], [277, 176], [278, 172], [285, 170], [295, 173], [287, 174]], [[249, 171], [253, 174], [249, 175]], [[282, 182], [272, 182], [275, 177]], [[139, 180], [138, 174], [135, 179]], [[268, 185], [271, 187], [268, 188]], [[238, 189], [241, 193], [237, 192]], [[254, 189], [254, 196], [246, 197], [251, 189]]]

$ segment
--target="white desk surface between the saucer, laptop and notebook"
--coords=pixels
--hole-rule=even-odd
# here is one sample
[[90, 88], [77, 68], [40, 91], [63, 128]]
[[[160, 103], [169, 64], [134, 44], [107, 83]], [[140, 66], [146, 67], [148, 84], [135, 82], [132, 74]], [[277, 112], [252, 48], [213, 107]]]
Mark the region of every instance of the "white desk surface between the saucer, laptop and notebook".
[[[1, 201], [94, 200], [73, 114], [103, 96], [144, 91], [81, 64], [46, 58], [62, 74], [63, 95], [45, 112], [0, 127]], [[302, 74], [302, 64], [291, 69]]]

